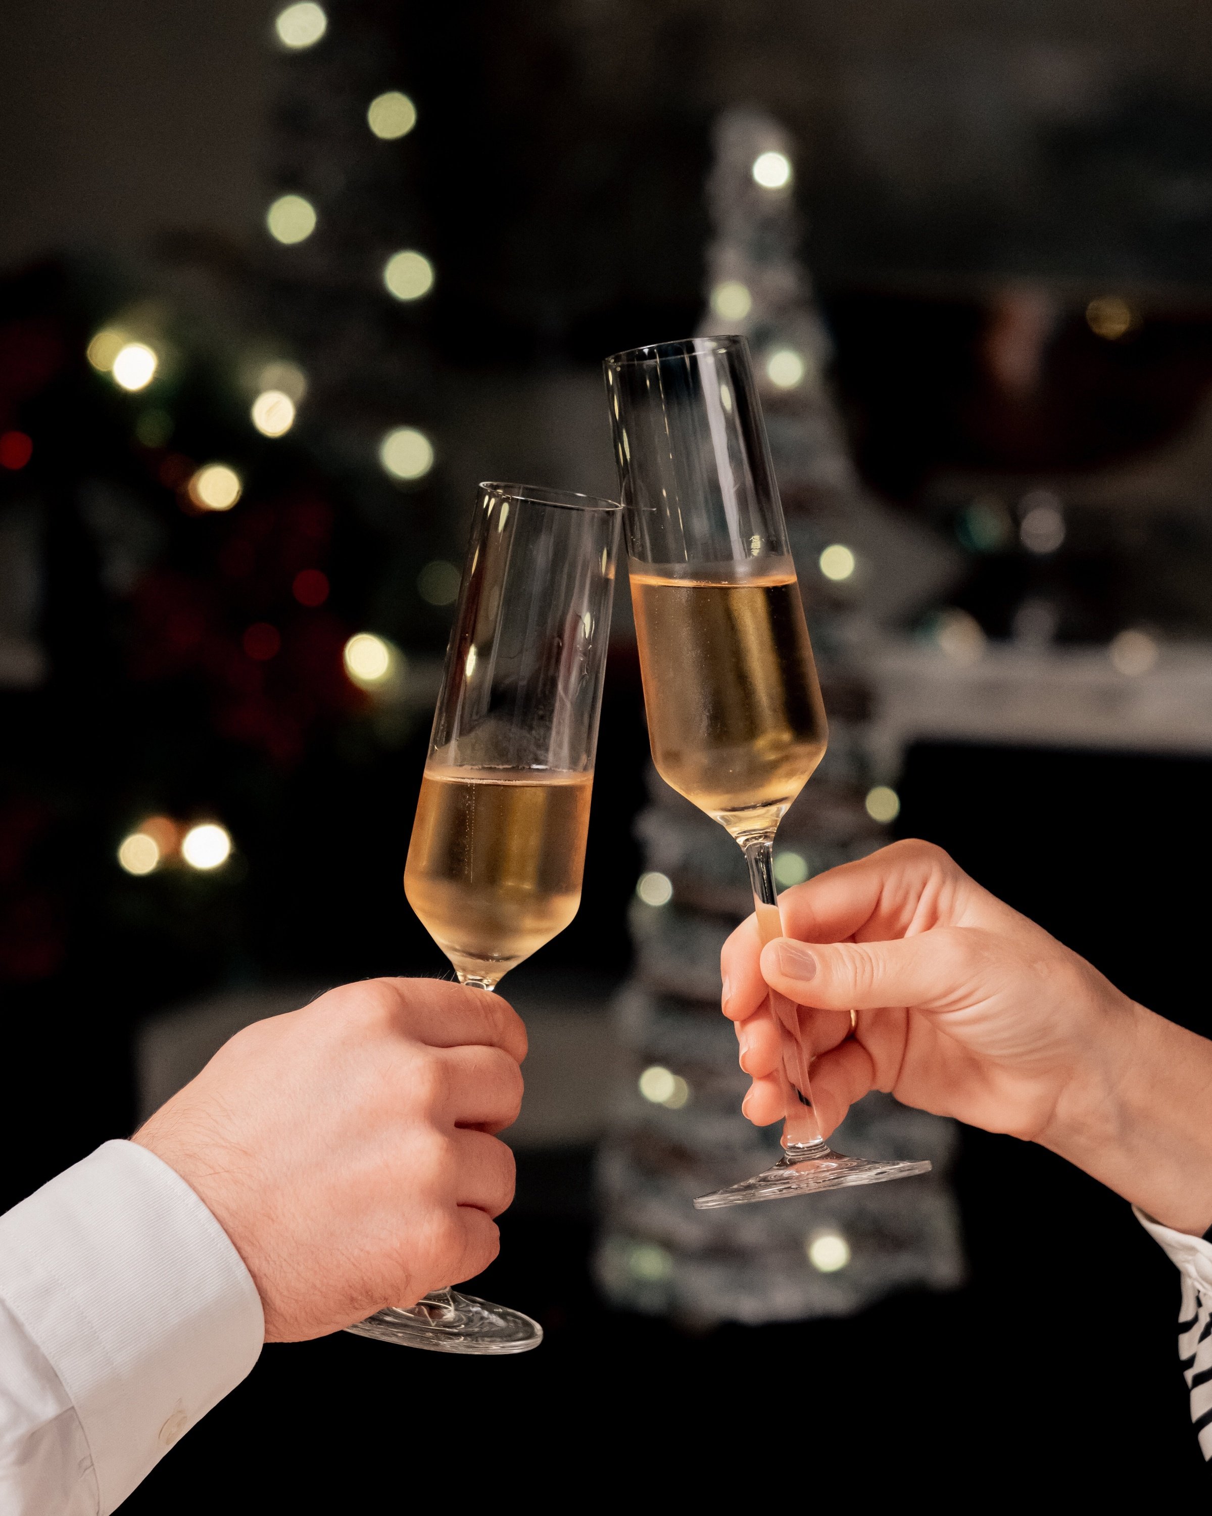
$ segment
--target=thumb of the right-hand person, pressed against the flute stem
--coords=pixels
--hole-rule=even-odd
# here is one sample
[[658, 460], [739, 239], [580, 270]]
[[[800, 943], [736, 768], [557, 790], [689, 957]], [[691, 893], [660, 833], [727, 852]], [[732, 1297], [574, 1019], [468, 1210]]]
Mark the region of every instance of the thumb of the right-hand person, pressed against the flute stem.
[[873, 943], [798, 943], [776, 937], [762, 949], [762, 978], [797, 1005], [877, 1010], [953, 1008], [974, 987], [974, 944], [962, 928]]

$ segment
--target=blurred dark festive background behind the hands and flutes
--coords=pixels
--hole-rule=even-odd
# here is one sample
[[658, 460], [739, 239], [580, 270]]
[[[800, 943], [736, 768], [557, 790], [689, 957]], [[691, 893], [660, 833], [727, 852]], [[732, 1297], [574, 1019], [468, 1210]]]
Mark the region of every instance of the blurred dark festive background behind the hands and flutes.
[[[830, 711], [780, 882], [927, 837], [1212, 1032], [1206, 9], [5, 33], [0, 1205], [247, 1020], [445, 970], [400, 875], [474, 485], [614, 494], [600, 359], [695, 330], [753, 346]], [[565, 1499], [585, 1443], [656, 1504], [712, 1498], [721, 1443], [851, 1502], [1194, 1490], [1173, 1267], [1050, 1154], [865, 1102], [851, 1148], [932, 1179], [688, 1216], [688, 1155], [761, 1142], [714, 1008], [744, 870], [648, 773], [615, 622], [582, 910], [506, 984], [533, 1054], [477, 1289], [542, 1349], [270, 1348], [129, 1508], [406, 1501], [418, 1433]]]

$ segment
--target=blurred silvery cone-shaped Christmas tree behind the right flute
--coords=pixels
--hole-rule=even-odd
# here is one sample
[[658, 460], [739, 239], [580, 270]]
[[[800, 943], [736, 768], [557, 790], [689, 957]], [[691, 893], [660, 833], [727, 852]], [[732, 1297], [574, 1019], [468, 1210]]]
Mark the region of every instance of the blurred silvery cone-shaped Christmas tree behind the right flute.
[[[798, 259], [792, 188], [783, 129], [756, 111], [724, 112], [708, 186], [715, 235], [701, 330], [742, 332], [753, 349], [830, 720], [826, 760], [779, 831], [783, 885], [888, 840], [871, 811], [886, 814], [891, 791], [871, 790], [895, 776], [873, 769], [865, 743], [864, 662], [883, 629], [929, 606], [953, 573], [950, 552], [870, 499], [856, 476], [823, 384], [830, 347]], [[759, 1131], [741, 1116], [748, 1079], [720, 1014], [720, 948], [751, 899], [727, 832], [654, 772], [638, 831], [648, 872], [632, 910], [636, 967], [617, 1007], [627, 1073], [600, 1155], [597, 1272], [606, 1293], [691, 1322], [756, 1323], [848, 1314], [911, 1286], [956, 1286], [954, 1128], [888, 1096], [862, 1101], [836, 1146], [930, 1158], [932, 1175], [692, 1208], [695, 1195], [777, 1157], [779, 1126]]]

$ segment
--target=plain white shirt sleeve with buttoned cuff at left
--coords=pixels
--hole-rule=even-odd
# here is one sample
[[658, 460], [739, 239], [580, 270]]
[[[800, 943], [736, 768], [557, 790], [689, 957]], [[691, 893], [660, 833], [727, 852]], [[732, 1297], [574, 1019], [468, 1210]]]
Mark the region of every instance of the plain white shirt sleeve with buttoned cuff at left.
[[265, 1323], [168, 1164], [108, 1142], [0, 1216], [0, 1510], [109, 1516], [250, 1372]]

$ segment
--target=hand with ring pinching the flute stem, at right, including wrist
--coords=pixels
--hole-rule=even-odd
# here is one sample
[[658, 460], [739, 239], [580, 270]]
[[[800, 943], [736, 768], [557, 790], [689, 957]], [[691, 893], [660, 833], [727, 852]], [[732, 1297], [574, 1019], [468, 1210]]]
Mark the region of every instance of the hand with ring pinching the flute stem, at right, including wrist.
[[824, 1135], [886, 1090], [1039, 1142], [1173, 1226], [1212, 1222], [1212, 1043], [1129, 1001], [929, 843], [832, 869], [780, 908], [785, 937], [764, 949], [750, 917], [723, 951], [750, 1120], [783, 1114], [777, 990], [811, 1007]]

